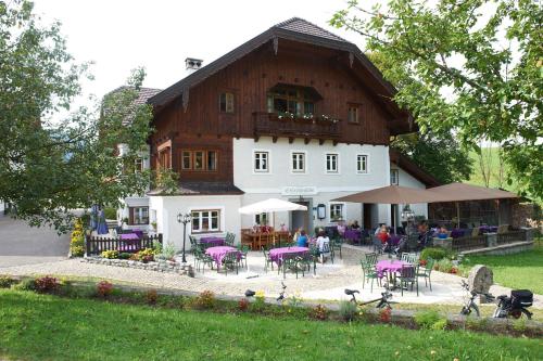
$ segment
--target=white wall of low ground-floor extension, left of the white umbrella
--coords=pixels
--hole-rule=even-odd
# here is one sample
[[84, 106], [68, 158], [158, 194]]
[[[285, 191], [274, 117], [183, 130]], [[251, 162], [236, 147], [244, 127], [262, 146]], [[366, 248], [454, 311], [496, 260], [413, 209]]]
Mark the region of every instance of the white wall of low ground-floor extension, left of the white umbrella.
[[[157, 232], [163, 234], [164, 242], [172, 242], [178, 249], [181, 249], [184, 227], [177, 222], [179, 212], [186, 214], [194, 209], [220, 209], [220, 232], [194, 235], [197, 237], [211, 234], [224, 236], [226, 232], [231, 232], [236, 234], [238, 243], [241, 229], [238, 211], [240, 207], [239, 195], [151, 196], [149, 211], [151, 215], [156, 214]], [[191, 234], [191, 227], [187, 224], [187, 249], [190, 249], [189, 234]]]

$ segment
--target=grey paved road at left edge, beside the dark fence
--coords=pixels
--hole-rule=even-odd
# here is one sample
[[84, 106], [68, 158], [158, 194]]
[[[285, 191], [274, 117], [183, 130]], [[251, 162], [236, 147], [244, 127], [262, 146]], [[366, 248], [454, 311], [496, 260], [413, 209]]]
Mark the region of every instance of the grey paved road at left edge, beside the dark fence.
[[29, 227], [0, 216], [0, 270], [5, 267], [58, 261], [66, 258], [70, 235], [53, 229]]

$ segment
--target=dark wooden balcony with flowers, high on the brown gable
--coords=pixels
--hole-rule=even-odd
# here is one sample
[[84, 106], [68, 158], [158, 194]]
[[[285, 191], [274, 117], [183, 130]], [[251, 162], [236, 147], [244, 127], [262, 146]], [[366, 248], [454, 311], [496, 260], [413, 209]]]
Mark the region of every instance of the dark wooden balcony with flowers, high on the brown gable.
[[253, 113], [254, 137], [273, 137], [274, 141], [279, 137], [289, 138], [292, 142], [295, 138], [303, 138], [306, 142], [312, 139], [337, 141], [340, 138], [338, 121], [320, 119], [301, 119], [283, 117], [279, 118], [275, 113]]

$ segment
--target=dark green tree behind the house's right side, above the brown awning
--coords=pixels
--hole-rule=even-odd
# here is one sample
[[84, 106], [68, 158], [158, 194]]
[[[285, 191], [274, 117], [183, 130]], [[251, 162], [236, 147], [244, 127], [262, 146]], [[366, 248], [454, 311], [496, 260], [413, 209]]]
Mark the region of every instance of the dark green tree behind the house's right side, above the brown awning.
[[459, 182], [469, 178], [471, 159], [452, 134], [411, 133], [397, 137], [391, 146], [408, 156], [442, 183]]

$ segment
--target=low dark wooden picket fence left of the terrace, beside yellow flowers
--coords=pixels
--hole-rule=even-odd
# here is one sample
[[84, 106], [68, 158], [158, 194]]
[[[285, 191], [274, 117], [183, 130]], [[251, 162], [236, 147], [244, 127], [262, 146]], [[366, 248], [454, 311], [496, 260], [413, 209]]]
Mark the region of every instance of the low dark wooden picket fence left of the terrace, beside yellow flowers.
[[106, 236], [86, 236], [85, 245], [87, 256], [100, 255], [104, 250], [118, 250], [119, 253], [136, 253], [140, 249], [152, 248], [153, 242], [162, 244], [162, 233], [143, 235], [139, 240], [121, 240]]

